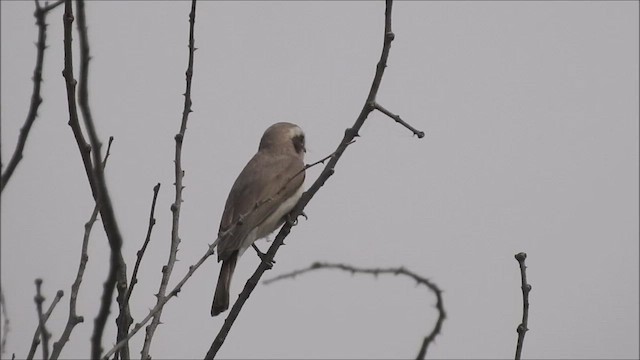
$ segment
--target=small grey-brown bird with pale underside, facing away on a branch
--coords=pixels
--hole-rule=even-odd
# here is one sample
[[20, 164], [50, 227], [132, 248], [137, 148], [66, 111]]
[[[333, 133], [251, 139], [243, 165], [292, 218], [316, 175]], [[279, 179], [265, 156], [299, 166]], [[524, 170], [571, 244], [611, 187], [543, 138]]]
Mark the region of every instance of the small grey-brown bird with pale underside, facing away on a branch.
[[304, 191], [305, 134], [292, 123], [269, 126], [258, 146], [236, 178], [225, 203], [217, 244], [220, 275], [211, 305], [211, 316], [229, 308], [231, 278], [238, 259], [254, 244], [278, 229]]

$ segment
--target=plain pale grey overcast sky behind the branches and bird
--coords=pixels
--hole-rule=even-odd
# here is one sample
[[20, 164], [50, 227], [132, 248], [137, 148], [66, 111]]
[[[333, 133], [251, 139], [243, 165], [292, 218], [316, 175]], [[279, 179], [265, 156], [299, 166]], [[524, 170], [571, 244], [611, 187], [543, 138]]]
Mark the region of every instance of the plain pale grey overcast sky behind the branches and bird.
[[[37, 29], [33, 2], [0, 10], [6, 164], [28, 109]], [[60, 336], [93, 208], [67, 126], [62, 10], [48, 19], [44, 102], [2, 194], [9, 358], [26, 356], [36, 328], [37, 277], [47, 302], [65, 291], [48, 323]], [[168, 256], [189, 10], [187, 1], [87, 3], [90, 102], [100, 137], [115, 137], [106, 175], [129, 274], [162, 183], [135, 321], [155, 303]], [[198, 3], [172, 283], [215, 239], [228, 191], [270, 124], [300, 125], [308, 162], [335, 149], [369, 90], [383, 15], [383, 2]], [[393, 30], [378, 100], [426, 137], [373, 113], [265, 278], [317, 260], [405, 266], [445, 291], [447, 319], [428, 357], [509, 358], [522, 313], [513, 256], [524, 251], [525, 357], [638, 358], [638, 2], [397, 2]], [[319, 172], [308, 171], [307, 185]], [[252, 252], [241, 259], [232, 301], [258, 262]], [[89, 355], [107, 267], [98, 225], [78, 300], [85, 322], [63, 357]], [[224, 320], [209, 316], [219, 268], [210, 258], [165, 307], [154, 358], [204, 356]], [[398, 277], [324, 271], [260, 285], [219, 356], [411, 358], [434, 304]], [[105, 347], [114, 339], [112, 316]]]

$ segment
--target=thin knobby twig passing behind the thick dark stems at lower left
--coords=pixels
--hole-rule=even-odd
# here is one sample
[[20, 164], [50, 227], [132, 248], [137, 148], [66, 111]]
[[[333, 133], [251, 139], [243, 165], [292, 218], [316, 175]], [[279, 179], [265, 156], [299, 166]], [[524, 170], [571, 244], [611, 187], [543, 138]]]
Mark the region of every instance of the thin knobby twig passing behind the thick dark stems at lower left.
[[[102, 167], [104, 168], [107, 165], [107, 160], [109, 159], [109, 154], [111, 153], [111, 144], [113, 143], [113, 136], [109, 137], [109, 145], [107, 146], [107, 153], [104, 156], [104, 160], [102, 161]], [[89, 247], [89, 236], [91, 235], [91, 229], [93, 228], [93, 224], [96, 222], [98, 218], [98, 213], [100, 208], [96, 203], [93, 207], [93, 212], [87, 221], [84, 224], [84, 236], [82, 237], [82, 248], [80, 251], [80, 265], [78, 265], [78, 273], [76, 274], [76, 279], [71, 285], [71, 296], [69, 297], [69, 317], [67, 319], [67, 325], [65, 325], [64, 331], [60, 335], [58, 341], [53, 344], [53, 352], [51, 353], [51, 360], [56, 360], [60, 357], [60, 353], [62, 352], [62, 348], [67, 344], [69, 338], [71, 336], [71, 332], [73, 328], [79, 323], [84, 321], [83, 316], [78, 316], [76, 313], [76, 303], [78, 299], [78, 292], [80, 291], [80, 284], [82, 283], [82, 277], [84, 275], [84, 270], [87, 266], [87, 261], [89, 260], [88, 247]]]

